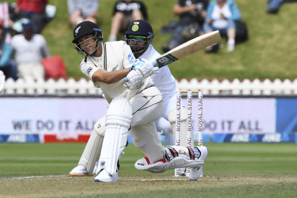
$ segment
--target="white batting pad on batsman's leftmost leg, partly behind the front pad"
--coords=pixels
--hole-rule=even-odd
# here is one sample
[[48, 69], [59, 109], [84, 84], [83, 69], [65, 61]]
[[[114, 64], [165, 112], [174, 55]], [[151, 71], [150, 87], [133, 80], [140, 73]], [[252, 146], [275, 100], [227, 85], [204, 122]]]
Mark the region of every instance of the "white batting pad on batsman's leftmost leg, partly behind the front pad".
[[79, 165], [86, 167], [88, 174], [92, 173], [95, 163], [100, 156], [104, 134], [105, 118], [100, 118], [94, 125], [91, 136], [78, 162]]

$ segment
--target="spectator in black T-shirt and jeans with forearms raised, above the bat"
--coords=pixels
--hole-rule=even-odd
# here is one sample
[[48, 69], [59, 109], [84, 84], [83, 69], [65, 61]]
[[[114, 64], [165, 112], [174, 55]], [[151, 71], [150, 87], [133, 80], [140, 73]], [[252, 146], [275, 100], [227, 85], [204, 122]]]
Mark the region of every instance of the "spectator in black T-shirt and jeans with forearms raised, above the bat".
[[179, 15], [179, 22], [167, 46], [162, 48], [164, 52], [200, 35], [208, 4], [208, 0], [179, 0], [174, 5], [173, 12]]

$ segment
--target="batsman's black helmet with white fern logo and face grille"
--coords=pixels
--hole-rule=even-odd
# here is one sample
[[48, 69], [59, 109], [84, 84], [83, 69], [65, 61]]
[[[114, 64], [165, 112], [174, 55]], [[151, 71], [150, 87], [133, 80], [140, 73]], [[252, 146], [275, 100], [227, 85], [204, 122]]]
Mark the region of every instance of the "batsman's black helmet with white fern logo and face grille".
[[[85, 45], [85, 41], [81, 41], [80, 43], [78, 42], [78, 39], [88, 35], [88, 34], [93, 34], [94, 37], [92, 38], [88, 38], [88, 39], [95, 39], [96, 41], [94, 42], [94, 44], [91, 45], [96, 45], [96, 48], [94, 49], [94, 51], [91, 54], [88, 54], [87, 50], [84, 51], [84, 49], [86, 47], [89, 47], [90, 45], [86, 46]], [[78, 54], [82, 54], [83, 58], [85, 58], [88, 55], [93, 55], [96, 54], [97, 52], [97, 48], [99, 46], [99, 44], [101, 43], [101, 41], [103, 40], [103, 33], [102, 30], [93, 22], [91, 21], [83, 21], [79, 24], [77, 24], [73, 30], [73, 40], [72, 43], [75, 43], [75, 49], [78, 51]], [[87, 40], [88, 40], [87, 39]], [[83, 46], [83, 47], [81, 47]]]

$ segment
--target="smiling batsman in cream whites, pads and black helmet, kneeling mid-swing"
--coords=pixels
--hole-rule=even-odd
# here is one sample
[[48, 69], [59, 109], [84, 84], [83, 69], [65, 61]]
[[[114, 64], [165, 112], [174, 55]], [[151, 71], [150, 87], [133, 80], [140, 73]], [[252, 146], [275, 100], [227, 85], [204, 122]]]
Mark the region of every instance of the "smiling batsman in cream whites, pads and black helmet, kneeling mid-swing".
[[[141, 26], [135, 24], [132, 28]], [[163, 101], [150, 78], [155, 73], [153, 65], [145, 59], [135, 60], [124, 41], [102, 43], [101, 29], [90, 21], [78, 24], [73, 34], [75, 49], [84, 57], [81, 71], [95, 87], [101, 88], [110, 106], [105, 119], [94, 125], [79, 165], [70, 175], [91, 174], [100, 156], [95, 181], [118, 181], [117, 162], [126, 146], [128, 131], [133, 144], [146, 156], [135, 163], [137, 169], [157, 173], [202, 166], [208, 153], [206, 147], [161, 145], [154, 121], [163, 114]]]

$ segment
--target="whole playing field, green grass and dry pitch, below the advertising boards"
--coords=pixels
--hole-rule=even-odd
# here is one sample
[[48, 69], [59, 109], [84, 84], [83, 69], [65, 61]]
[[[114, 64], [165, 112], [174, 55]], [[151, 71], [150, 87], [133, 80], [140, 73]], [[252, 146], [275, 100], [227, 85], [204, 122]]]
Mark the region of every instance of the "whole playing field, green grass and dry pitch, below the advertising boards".
[[204, 144], [209, 148], [197, 181], [136, 170], [134, 145], [120, 160], [119, 182], [68, 177], [85, 144], [0, 144], [0, 197], [296, 197], [297, 145]]

